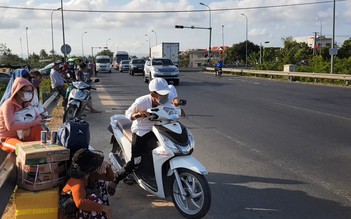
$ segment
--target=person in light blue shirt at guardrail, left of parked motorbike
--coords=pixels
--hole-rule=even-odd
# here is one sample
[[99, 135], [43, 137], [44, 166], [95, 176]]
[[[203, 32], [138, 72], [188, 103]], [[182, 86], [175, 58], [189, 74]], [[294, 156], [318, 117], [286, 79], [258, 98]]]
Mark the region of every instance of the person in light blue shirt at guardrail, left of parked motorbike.
[[67, 104], [66, 99], [66, 88], [62, 75], [60, 74], [60, 63], [55, 62], [50, 72], [51, 88], [57, 91], [63, 98], [62, 106], [65, 107]]

